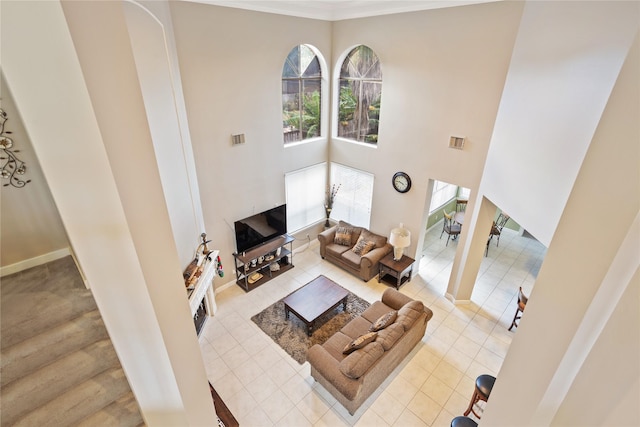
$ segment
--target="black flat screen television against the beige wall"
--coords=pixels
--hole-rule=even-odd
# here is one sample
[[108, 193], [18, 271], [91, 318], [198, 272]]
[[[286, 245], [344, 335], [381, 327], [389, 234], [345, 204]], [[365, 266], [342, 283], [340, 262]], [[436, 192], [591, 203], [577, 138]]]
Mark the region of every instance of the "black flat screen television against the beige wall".
[[260, 212], [234, 223], [237, 253], [287, 233], [287, 205]]

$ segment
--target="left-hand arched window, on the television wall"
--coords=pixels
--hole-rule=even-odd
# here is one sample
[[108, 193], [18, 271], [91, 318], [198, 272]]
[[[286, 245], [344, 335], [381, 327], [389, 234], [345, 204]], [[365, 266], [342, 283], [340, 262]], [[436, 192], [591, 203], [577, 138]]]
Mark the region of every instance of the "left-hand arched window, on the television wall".
[[285, 144], [320, 136], [322, 71], [307, 45], [294, 47], [282, 69], [282, 128]]

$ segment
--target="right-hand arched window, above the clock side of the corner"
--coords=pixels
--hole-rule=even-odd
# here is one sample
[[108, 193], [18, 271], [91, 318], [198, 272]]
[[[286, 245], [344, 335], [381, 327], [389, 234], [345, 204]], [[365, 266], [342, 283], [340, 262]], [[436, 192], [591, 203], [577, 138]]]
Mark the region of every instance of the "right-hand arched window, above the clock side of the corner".
[[371, 48], [355, 47], [340, 69], [338, 136], [378, 143], [382, 71]]

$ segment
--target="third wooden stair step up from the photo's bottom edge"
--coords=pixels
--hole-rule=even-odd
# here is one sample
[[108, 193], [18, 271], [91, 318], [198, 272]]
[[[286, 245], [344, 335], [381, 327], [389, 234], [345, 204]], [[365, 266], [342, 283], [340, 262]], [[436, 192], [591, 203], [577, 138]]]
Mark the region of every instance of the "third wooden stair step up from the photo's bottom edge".
[[75, 384], [116, 366], [120, 366], [116, 353], [111, 341], [105, 339], [9, 383], [1, 390], [3, 424], [12, 424]]

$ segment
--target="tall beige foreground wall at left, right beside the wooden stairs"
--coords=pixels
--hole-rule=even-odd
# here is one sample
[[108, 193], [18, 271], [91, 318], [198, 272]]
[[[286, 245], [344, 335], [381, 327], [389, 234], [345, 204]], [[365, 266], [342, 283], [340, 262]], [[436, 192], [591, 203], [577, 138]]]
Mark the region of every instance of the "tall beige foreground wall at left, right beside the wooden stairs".
[[8, 84], [145, 422], [215, 425], [122, 4], [2, 7]]

